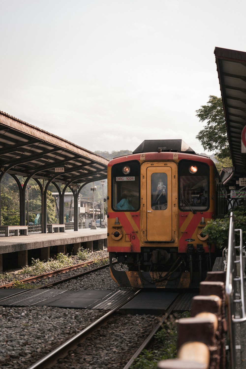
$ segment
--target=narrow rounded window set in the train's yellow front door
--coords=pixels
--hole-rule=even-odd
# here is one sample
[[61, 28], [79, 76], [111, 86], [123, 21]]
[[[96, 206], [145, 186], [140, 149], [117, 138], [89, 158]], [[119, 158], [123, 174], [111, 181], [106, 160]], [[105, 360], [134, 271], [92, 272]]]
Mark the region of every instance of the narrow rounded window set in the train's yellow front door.
[[167, 175], [152, 173], [151, 175], [151, 207], [153, 210], [167, 208]]

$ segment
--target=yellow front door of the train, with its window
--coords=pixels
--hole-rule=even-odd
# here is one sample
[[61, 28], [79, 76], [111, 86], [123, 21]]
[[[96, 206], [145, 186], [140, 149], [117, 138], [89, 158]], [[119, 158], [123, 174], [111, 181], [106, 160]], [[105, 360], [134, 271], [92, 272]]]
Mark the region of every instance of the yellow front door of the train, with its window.
[[148, 167], [147, 189], [147, 240], [172, 240], [172, 168]]

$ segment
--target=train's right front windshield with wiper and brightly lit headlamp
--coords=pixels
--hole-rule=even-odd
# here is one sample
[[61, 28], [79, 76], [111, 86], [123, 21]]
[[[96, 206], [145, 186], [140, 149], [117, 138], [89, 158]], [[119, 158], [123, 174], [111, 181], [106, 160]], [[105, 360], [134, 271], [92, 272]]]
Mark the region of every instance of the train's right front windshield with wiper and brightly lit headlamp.
[[209, 207], [209, 166], [183, 160], [179, 163], [179, 207], [181, 210], [206, 210]]

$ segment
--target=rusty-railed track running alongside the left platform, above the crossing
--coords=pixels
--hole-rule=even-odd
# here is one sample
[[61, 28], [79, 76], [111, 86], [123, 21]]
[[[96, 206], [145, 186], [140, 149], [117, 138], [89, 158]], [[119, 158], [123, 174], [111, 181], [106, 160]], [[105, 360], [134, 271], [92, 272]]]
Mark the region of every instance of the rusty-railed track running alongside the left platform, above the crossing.
[[[103, 257], [103, 258], [97, 259], [97, 261], [103, 261], [103, 260], [105, 260], [105, 259], [108, 259], [108, 257], [107, 257], [107, 256], [105, 256], [105, 257]], [[71, 271], [71, 270], [75, 270], [75, 269], [79, 269], [79, 268], [82, 268], [82, 267], [87, 266], [87, 265], [91, 265], [91, 264], [93, 264], [94, 262], [95, 262], [95, 261], [93, 260], [93, 261], [87, 261], [87, 262], [83, 262], [83, 263], [79, 263], [79, 264], [75, 264], [75, 265], [67, 266], [67, 267], [65, 267], [65, 268], [58, 269], [58, 270], [53, 270], [53, 271], [51, 271], [51, 272], [44, 273], [44, 274], [40, 274], [40, 275], [38, 275], [38, 276], [32, 276], [32, 277], [28, 277], [28, 278], [20, 279], [20, 280], [18, 280], [18, 282], [22, 282], [22, 283], [36, 282], [37, 280], [50, 278], [50, 277], [55, 276], [55, 275], [59, 275], [59, 274], [62, 274], [62, 273], [69, 272], [69, 271]], [[106, 268], [107, 266], [109, 266], [109, 264], [105, 264], [105, 265], [99, 266], [99, 267], [97, 267], [97, 268], [93, 268], [93, 269], [91, 269], [91, 270], [87, 270], [86, 272], [83, 272], [83, 273], [78, 273], [78, 274], [76, 274], [75, 276], [67, 277], [67, 278], [64, 278], [64, 279], [62, 279], [62, 280], [60, 280], [60, 281], [57, 281], [57, 282], [54, 282], [54, 283], [49, 283], [49, 284], [46, 284], [45, 286], [38, 287], [38, 288], [52, 287], [52, 286], [54, 286], [55, 284], [65, 282], [66, 280], [76, 278], [77, 276], [86, 275], [86, 274], [90, 273], [91, 271], [96, 271], [96, 270], [99, 270], [99, 269], [103, 269], [103, 268]], [[15, 283], [16, 283], [16, 281], [11, 282], [11, 283], [2, 284], [2, 285], [0, 286], [0, 289], [9, 289], [9, 288], [13, 288], [13, 286], [14, 286], [14, 284], [15, 284]]]

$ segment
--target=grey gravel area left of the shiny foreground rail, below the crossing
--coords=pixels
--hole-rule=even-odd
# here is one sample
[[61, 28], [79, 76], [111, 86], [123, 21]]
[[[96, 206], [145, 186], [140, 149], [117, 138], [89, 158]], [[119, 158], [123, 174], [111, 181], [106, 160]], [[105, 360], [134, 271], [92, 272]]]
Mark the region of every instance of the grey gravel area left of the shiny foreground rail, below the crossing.
[[28, 368], [104, 313], [47, 306], [0, 307], [0, 367]]

